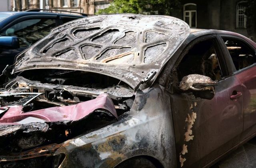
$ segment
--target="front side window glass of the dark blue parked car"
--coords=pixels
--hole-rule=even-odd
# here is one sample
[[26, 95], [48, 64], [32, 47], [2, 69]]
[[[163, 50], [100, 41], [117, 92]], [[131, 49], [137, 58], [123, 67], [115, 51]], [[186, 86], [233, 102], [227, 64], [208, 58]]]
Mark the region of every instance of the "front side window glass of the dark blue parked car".
[[6, 29], [1, 36], [17, 36], [20, 47], [28, 47], [48, 35], [55, 26], [55, 19], [24, 20]]

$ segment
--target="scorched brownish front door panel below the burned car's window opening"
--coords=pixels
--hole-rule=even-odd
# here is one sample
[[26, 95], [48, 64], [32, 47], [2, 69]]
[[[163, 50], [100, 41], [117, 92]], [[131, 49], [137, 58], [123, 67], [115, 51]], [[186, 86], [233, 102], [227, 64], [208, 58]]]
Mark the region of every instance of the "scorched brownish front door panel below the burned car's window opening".
[[[235, 76], [219, 81], [212, 100], [192, 93], [172, 94], [177, 154], [182, 167], [202, 167], [239, 142], [243, 128], [242, 96]], [[200, 160], [200, 162], [198, 162]]]

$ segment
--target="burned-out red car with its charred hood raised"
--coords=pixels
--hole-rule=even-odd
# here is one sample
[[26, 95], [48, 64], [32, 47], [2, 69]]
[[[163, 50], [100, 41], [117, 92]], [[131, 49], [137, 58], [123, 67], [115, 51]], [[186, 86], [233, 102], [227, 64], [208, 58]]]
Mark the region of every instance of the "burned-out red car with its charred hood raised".
[[0, 167], [209, 167], [256, 134], [255, 53], [170, 16], [54, 28], [1, 76]]

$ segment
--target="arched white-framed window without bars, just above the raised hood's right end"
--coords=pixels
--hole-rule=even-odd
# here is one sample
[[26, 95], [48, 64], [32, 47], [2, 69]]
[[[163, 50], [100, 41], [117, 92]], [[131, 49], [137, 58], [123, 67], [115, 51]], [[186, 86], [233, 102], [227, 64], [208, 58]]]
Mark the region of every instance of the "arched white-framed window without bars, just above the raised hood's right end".
[[184, 4], [183, 20], [191, 28], [196, 28], [196, 4], [192, 4], [192, 3]]

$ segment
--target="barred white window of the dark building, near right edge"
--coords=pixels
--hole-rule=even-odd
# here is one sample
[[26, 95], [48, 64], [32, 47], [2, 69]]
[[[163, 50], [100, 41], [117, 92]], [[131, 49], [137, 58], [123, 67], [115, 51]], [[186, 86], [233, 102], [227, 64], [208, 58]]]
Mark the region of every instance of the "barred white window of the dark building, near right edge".
[[246, 1], [236, 4], [236, 28], [246, 28], [247, 16], [245, 14]]

